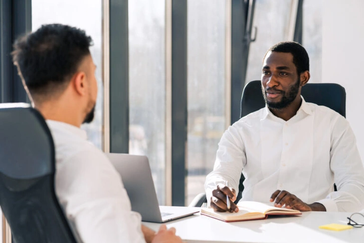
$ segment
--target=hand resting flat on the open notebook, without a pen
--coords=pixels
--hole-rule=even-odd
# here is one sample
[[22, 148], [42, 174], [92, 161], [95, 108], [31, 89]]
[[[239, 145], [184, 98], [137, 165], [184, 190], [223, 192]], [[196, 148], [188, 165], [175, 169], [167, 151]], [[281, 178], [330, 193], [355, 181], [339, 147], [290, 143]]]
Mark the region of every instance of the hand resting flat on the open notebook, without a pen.
[[320, 203], [306, 204], [297, 198], [295, 195], [287, 192], [277, 190], [270, 197], [270, 202], [274, 201], [274, 206], [282, 208], [286, 205], [287, 209], [295, 209], [299, 211], [326, 211], [324, 205]]

